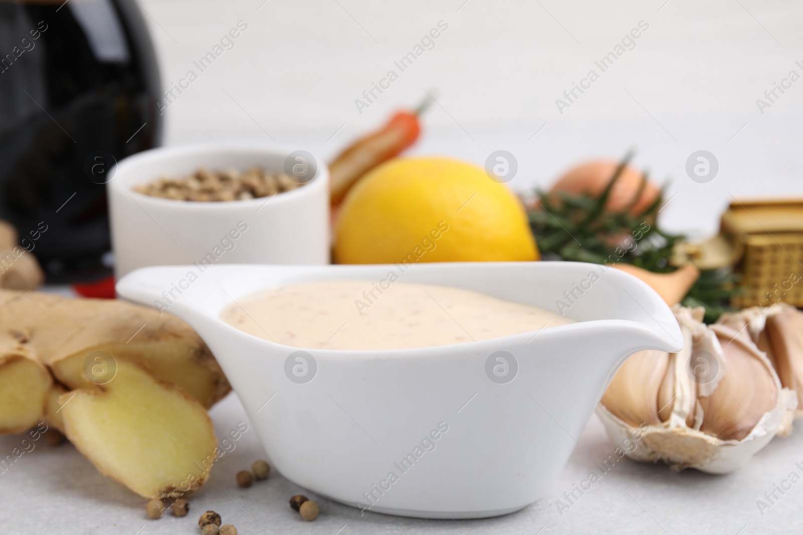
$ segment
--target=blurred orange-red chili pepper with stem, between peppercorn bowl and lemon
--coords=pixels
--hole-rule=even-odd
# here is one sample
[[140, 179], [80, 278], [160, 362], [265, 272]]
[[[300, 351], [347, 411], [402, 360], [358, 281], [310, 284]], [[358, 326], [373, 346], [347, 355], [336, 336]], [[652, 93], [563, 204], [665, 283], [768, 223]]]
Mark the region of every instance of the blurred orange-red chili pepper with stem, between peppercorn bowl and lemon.
[[329, 193], [336, 203], [343, 201], [357, 180], [377, 165], [402, 153], [418, 140], [418, 116], [429, 106], [425, 100], [415, 111], [398, 111], [385, 127], [349, 145], [329, 164]]

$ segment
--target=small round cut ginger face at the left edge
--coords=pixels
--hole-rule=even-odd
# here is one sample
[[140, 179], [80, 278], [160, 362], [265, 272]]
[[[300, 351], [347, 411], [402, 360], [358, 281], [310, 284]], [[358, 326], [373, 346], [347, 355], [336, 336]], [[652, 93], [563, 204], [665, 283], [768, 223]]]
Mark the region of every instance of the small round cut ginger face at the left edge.
[[53, 382], [47, 368], [19, 349], [0, 355], [0, 433], [21, 433], [38, 424]]

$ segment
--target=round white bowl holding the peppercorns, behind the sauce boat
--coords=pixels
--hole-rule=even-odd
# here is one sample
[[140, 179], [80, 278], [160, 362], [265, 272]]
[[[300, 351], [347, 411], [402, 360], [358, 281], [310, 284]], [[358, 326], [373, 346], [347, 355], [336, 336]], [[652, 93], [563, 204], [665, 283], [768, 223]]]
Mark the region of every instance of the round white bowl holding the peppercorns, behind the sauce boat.
[[[301, 173], [296, 179], [287, 172], [288, 167], [299, 168], [298, 162], [303, 162], [308, 177]], [[135, 189], [162, 176], [188, 176], [199, 168], [243, 173], [259, 168], [286, 173], [303, 185], [234, 201], [178, 201]], [[117, 278], [149, 265], [196, 265], [200, 274], [216, 263], [329, 261], [328, 169], [308, 152], [231, 143], [155, 148], [121, 160], [110, 175]]]

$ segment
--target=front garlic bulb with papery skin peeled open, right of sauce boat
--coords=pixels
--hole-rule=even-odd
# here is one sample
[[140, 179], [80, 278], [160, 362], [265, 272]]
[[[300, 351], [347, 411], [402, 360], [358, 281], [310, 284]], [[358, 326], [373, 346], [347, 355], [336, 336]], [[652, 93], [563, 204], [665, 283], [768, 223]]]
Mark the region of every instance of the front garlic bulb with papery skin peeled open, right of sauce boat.
[[797, 407], [766, 355], [703, 309], [673, 307], [685, 346], [641, 351], [613, 377], [597, 413], [611, 439], [637, 446], [634, 460], [675, 470], [732, 472], [764, 448]]

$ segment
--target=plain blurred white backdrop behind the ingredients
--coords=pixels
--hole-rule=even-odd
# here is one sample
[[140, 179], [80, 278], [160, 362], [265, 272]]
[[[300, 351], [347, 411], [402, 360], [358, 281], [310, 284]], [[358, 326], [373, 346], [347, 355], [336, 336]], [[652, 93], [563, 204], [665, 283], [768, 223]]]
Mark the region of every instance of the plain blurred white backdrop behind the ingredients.
[[[799, 2], [263, 2], [139, 2], [165, 87], [198, 72], [193, 61], [238, 20], [248, 25], [165, 111], [167, 144], [263, 140], [328, 160], [436, 91], [413, 152], [483, 164], [506, 149], [519, 161], [517, 190], [636, 148], [638, 165], [671, 180], [666, 198], [677, 193], [661, 213], [670, 229], [714, 233], [732, 197], [803, 193], [803, 80], [763, 115], [756, 105], [789, 71], [803, 75]], [[360, 114], [354, 100], [440, 20], [449, 28], [434, 49]], [[561, 115], [555, 100], [641, 20], [650, 27], [634, 50]], [[719, 160], [708, 184], [685, 172], [699, 149]]]

